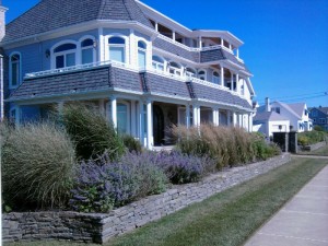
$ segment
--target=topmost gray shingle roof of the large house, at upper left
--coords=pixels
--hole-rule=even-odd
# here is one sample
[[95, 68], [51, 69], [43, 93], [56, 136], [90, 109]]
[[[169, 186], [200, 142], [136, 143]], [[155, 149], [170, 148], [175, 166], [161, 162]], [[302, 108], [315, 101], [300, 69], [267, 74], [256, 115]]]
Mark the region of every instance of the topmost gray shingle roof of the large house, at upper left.
[[7, 25], [3, 42], [94, 20], [137, 21], [153, 28], [134, 0], [42, 0]]

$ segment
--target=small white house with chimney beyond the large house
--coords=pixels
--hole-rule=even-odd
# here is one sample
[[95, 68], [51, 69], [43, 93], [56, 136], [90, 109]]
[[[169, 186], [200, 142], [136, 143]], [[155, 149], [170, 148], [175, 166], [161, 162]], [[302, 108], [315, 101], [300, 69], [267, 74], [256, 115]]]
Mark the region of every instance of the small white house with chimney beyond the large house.
[[257, 108], [253, 120], [254, 131], [260, 131], [267, 137], [272, 132], [289, 132], [290, 130], [303, 132], [313, 129], [312, 119], [305, 103], [285, 104], [266, 98], [266, 105]]

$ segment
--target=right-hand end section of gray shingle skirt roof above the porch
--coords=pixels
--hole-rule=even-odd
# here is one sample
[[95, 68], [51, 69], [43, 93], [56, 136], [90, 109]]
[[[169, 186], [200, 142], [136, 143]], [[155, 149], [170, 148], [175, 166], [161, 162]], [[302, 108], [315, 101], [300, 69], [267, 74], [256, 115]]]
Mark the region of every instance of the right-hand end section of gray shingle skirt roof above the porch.
[[222, 91], [214, 87], [209, 87], [199, 83], [189, 82], [189, 87], [192, 90], [191, 95], [198, 99], [210, 99], [232, 105], [238, 105], [247, 109], [251, 109], [251, 105], [239, 96], [232, 95], [227, 91]]

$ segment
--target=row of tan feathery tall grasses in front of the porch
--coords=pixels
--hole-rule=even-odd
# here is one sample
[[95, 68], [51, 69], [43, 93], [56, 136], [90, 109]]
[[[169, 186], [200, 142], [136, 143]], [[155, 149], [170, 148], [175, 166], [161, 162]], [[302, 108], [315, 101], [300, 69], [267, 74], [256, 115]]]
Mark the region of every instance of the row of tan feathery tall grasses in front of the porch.
[[[269, 147], [263, 139], [255, 139], [242, 128], [201, 125], [187, 129], [179, 126], [173, 127], [172, 132], [178, 150], [189, 155], [209, 156], [215, 160], [219, 169], [265, 160], [277, 152], [276, 147]], [[254, 142], [266, 153], [255, 150]]]

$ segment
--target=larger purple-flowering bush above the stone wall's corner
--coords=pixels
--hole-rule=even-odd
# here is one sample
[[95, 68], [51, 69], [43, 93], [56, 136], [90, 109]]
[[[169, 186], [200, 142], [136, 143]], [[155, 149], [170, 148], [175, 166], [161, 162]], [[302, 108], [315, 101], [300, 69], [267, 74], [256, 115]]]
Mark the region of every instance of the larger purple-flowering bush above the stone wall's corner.
[[[118, 163], [103, 155], [82, 163], [71, 208], [82, 212], [108, 212], [138, 198], [163, 192], [167, 178], [152, 160], [154, 155], [127, 153]], [[101, 165], [99, 165], [101, 164]]]

